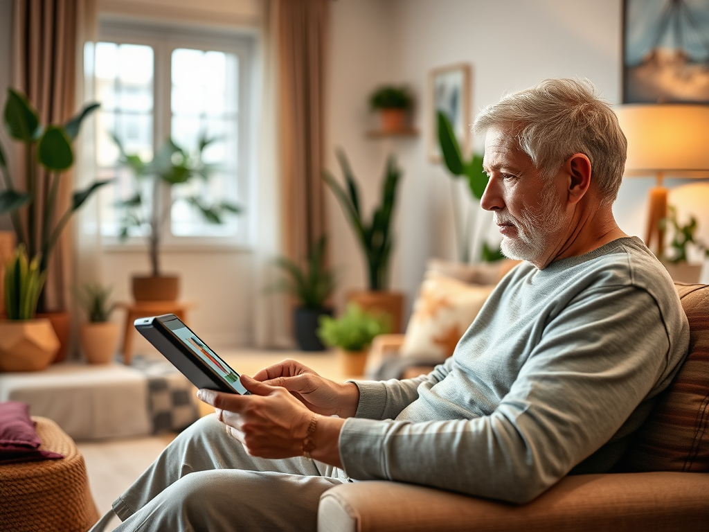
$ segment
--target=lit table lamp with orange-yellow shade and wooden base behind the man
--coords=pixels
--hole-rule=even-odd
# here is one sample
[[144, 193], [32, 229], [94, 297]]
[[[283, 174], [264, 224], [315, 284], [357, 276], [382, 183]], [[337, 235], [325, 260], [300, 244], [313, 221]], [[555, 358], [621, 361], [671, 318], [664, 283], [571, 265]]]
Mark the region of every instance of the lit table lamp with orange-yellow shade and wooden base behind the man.
[[666, 174], [709, 177], [709, 106], [692, 104], [628, 104], [615, 107], [627, 138], [625, 176], [654, 175], [650, 189], [645, 245], [657, 239], [662, 256], [664, 231], [659, 221], [667, 213]]

